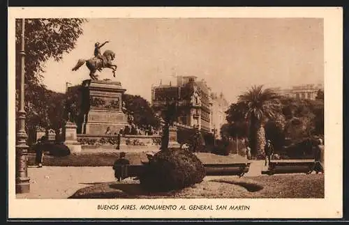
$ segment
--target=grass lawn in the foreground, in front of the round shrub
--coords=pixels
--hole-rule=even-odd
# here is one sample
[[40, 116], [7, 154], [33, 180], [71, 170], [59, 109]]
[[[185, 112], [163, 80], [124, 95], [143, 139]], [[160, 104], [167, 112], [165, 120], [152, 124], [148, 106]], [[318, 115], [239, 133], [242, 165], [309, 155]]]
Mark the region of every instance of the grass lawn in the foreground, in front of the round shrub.
[[70, 199], [156, 199], [156, 198], [324, 198], [322, 174], [216, 178], [179, 191], [144, 192], [138, 180], [96, 183], [75, 192]]

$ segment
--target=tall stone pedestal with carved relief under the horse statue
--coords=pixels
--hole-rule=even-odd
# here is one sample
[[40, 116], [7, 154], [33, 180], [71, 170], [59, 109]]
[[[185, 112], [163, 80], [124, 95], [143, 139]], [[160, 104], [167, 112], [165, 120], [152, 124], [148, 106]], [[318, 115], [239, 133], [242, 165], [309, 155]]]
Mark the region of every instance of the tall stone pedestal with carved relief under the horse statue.
[[126, 89], [120, 82], [85, 80], [82, 82], [81, 114], [78, 133], [105, 135], [119, 134], [127, 123], [122, 111], [122, 95]]

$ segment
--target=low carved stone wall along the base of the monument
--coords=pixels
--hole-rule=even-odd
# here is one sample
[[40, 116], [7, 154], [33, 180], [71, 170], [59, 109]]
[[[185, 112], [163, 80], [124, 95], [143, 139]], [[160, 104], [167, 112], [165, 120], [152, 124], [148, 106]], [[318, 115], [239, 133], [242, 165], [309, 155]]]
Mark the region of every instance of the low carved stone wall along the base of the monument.
[[[82, 150], [114, 150], [118, 141], [117, 135], [77, 134], [77, 142], [81, 144]], [[120, 137], [120, 150], [158, 148], [160, 143], [161, 137], [158, 135], [124, 135]]]

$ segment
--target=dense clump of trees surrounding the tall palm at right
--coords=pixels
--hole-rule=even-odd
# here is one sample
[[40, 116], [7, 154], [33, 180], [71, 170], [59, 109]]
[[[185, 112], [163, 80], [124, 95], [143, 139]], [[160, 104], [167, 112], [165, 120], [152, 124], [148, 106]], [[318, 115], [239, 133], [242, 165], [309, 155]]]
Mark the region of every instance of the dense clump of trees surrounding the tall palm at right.
[[[254, 123], [262, 123], [265, 135], [273, 143], [283, 145], [283, 139], [299, 141], [311, 136], [324, 134], [324, 100], [323, 92], [318, 91], [316, 100], [302, 100], [286, 98], [273, 94], [268, 89], [262, 90], [261, 86], [254, 86], [248, 92], [239, 96], [237, 103], [231, 104], [226, 111], [228, 124], [223, 125], [222, 132], [230, 137], [241, 133], [248, 137], [255, 132]], [[267, 119], [267, 120], [265, 120]], [[269, 122], [268, 122], [269, 121]], [[246, 132], [244, 125], [248, 123]], [[255, 137], [250, 137], [251, 141]]]

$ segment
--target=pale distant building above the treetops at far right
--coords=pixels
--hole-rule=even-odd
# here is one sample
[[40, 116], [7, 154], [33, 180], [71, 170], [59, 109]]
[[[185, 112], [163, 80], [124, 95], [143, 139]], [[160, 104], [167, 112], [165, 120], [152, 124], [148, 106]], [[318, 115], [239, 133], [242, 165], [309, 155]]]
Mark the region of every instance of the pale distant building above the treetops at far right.
[[304, 84], [291, 88], [271, 88], [275, 93], [289, 98], [315, 100], [319, 90], [324, 90], [322, 84]]

